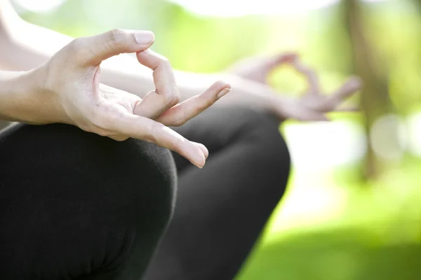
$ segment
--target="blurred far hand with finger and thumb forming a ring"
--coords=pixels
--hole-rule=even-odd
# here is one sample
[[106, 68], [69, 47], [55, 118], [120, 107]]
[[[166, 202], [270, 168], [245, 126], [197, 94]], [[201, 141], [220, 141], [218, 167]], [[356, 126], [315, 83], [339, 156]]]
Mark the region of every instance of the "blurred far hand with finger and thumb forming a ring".
[[[309, 87], [301, 97], [295, 99], [281, 97], [267, 82], [269, 73], [281, 64], [290, 64], [307, 78]], [[281, 119], [327, 120], [326, 113], [356, 111], [356, 108], [341, 109], [340, 105], [345, 99], [360, 90], [362, 85], [360, 78], [351, 77], [333, 94], [324, 95], [316, 73], [302, 64], [298, 55], [293, 52], [265, 58], [248, 58], [232, 66], [230, 71], [237, 76], [265, 85], [265, 87], [260, 86], [260, 90], [275, 93], [277, 98], [272, 102], [271, 109]]]

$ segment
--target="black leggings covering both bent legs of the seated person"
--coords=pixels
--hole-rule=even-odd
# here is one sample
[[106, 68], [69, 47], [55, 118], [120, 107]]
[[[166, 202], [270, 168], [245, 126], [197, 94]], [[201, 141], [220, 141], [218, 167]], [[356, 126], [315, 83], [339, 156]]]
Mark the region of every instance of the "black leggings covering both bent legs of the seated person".
[[233, 279], [288, 180], [278, 126], [249, 109], [208, 109], [175, 129], [208, 147], [203, 169], [145, 141], [9, 127], [0, 279]]

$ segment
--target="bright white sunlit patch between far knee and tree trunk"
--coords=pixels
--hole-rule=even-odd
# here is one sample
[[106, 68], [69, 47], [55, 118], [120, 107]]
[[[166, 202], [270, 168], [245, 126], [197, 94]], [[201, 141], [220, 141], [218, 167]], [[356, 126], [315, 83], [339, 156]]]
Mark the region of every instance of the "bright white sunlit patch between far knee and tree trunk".
[[[338, 218], [349, 193], [330, 181], [338, 165], [352, 165], [366, 155], [363, 127], [351, 121], [286, 125], [284, 134], [293, 162], [292, 185], [277, 209], [269, 232], [319, 225]], [[312, 135], [309, 138], [309, 135]]]

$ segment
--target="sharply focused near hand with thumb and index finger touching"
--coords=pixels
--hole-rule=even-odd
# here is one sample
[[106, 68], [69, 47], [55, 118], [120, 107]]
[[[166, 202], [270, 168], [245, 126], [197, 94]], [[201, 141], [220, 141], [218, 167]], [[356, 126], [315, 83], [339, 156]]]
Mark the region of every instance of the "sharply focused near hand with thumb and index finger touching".
[[[230, 86], [214, 83], [202, 94], [178, 104], [180, 94], [171, 64], [148, 50], [153, 42], [150, 31], [112, 30], [76, 38], [32, 73], [44, 81], [38, 94], [44, 103], [38, 108], [35, 123], [69, 123], [118, 141], [142, 139], [203, 167], [206, 147], [188, 141], [168, 126], [182, 125], [198, 115], [227, 94]], [[154, 71], [156, 90], [143, 100], [100, 84], [101, 62], [123, 52], [136, 52], [138, 61]]]

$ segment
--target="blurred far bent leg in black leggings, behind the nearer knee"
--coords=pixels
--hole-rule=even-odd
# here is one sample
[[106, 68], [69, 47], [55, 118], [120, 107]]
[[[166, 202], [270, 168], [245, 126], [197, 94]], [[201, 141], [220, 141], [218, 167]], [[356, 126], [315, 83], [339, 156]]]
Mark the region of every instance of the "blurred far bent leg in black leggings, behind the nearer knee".
[[173, 221], [146, 280], [232, 280], [283, 196], [290, 156], [279, 121], [250, 109], [209, 109], [178, 132], [205, 144], [202, 170], [175, 155]]

